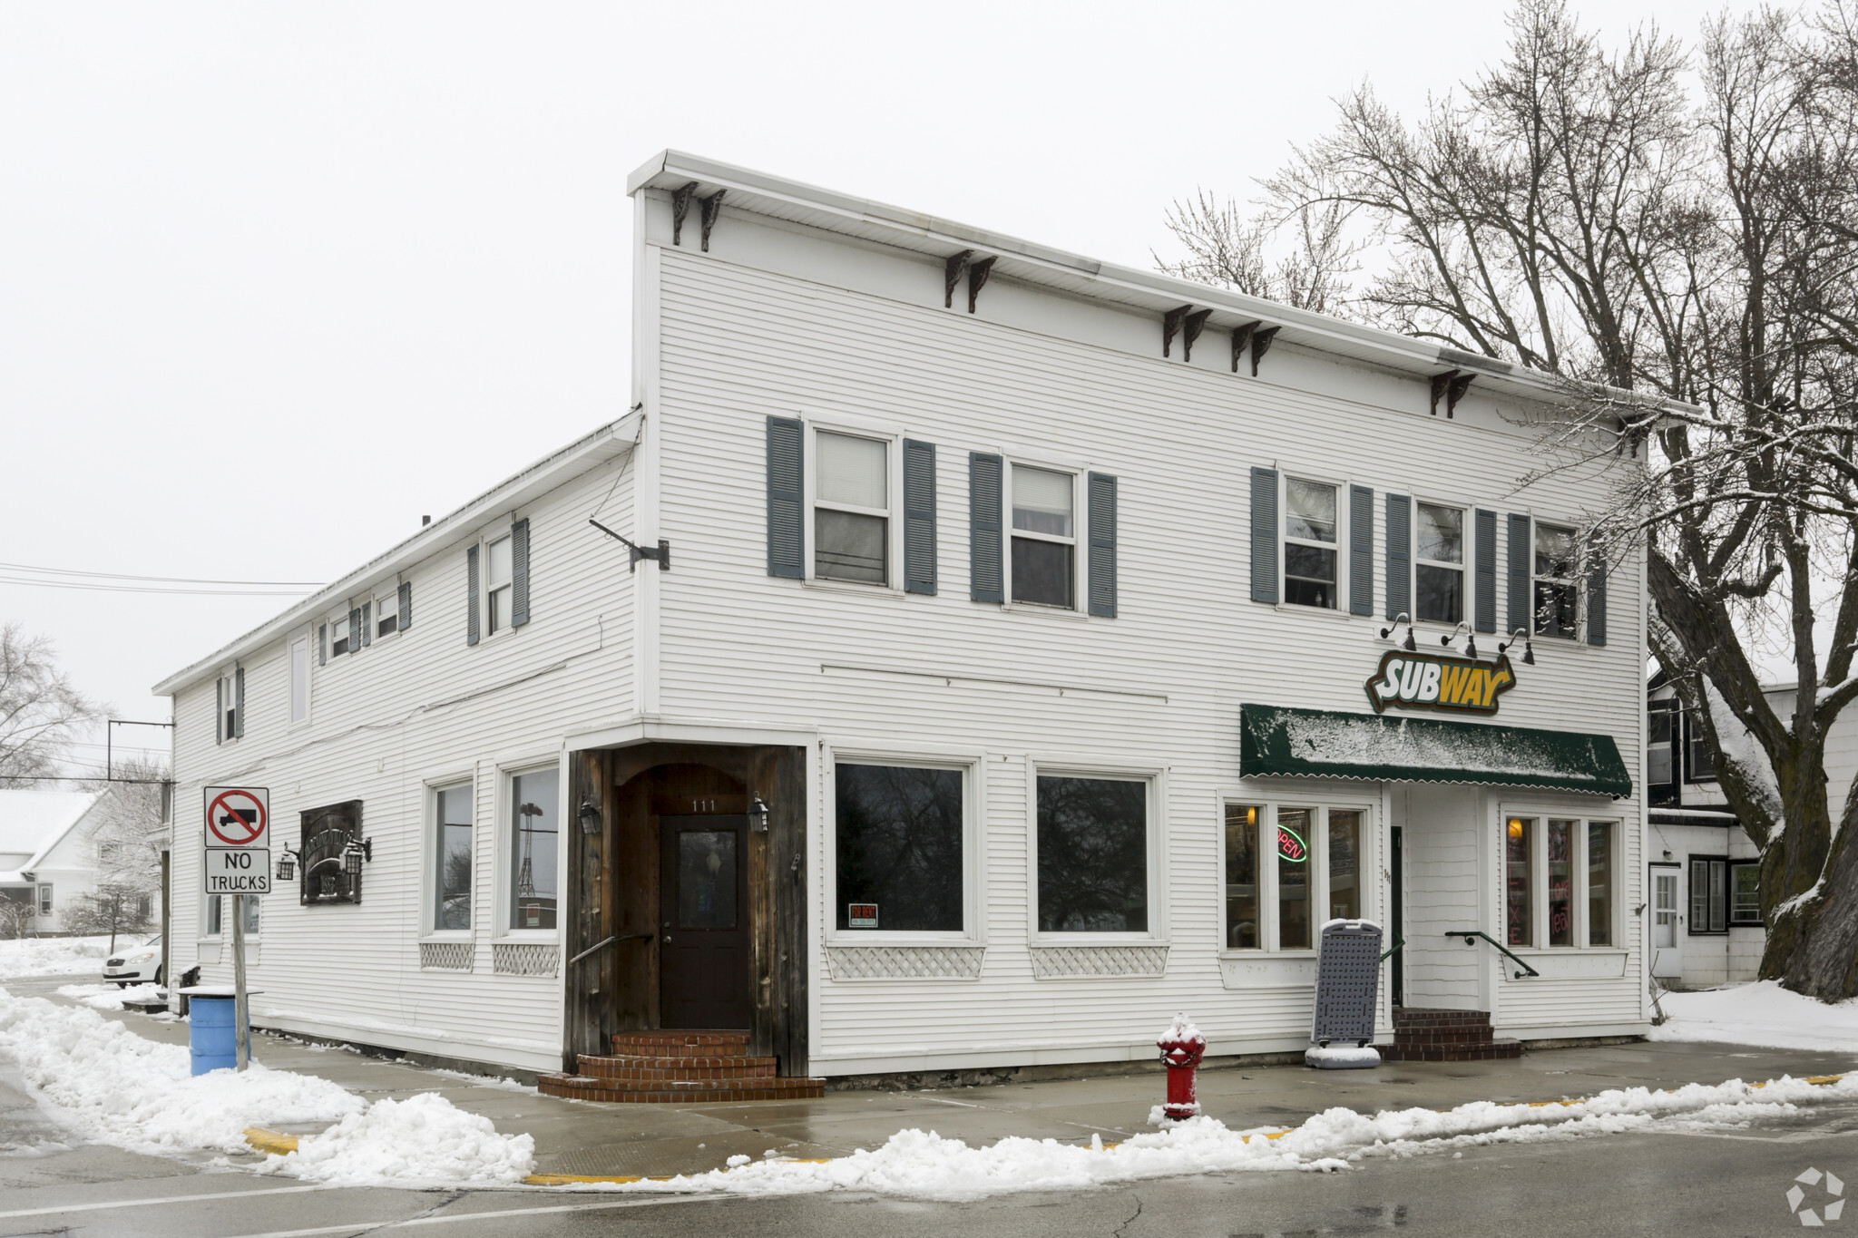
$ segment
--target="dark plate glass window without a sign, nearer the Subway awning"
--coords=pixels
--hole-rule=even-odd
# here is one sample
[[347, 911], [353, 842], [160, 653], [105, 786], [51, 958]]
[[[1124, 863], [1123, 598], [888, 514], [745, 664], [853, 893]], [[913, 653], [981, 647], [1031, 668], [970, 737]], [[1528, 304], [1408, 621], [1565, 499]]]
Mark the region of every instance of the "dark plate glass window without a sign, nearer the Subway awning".
[[1039, 776], [1039, 932], [1148, 932], [1148, 783]]

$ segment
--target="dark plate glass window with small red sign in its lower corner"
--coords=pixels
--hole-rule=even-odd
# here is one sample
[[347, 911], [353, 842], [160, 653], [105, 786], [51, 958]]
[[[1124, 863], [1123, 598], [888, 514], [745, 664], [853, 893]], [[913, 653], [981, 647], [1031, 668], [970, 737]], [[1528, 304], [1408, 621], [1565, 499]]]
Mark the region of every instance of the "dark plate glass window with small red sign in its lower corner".
[[838, 928], [961, 932], [961, 770], [836, 765]]

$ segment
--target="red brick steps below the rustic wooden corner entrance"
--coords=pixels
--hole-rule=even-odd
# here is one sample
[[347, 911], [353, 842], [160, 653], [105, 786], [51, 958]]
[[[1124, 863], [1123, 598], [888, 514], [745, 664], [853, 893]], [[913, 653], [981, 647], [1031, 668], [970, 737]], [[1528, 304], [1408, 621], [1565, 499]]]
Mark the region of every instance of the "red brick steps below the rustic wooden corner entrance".
[[537, 1090], [570, 1101], [678, 1104], [814, 1101], [823, 1078], [780, 1078], [773, 1058], [749, 1056], [747, 1032], [619, 1032], [613, 1056], [582, 1054], [578, 1075], [539, 1075]]

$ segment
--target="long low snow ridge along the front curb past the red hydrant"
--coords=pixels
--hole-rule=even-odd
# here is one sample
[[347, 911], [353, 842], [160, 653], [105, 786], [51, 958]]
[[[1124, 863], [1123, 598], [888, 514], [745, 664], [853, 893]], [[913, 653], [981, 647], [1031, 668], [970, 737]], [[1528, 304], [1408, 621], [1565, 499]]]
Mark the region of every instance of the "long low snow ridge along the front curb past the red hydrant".
[[[1782, 1078], [1765, 1088], [1741, 1080], [1674, 1091], [1628, 1088], [1570, 1104], [1496, 1104], [1397, 1110], [1373, 1117], [1347, 1108], [1317, 1114], [1295, 1130], [1230, 1130], [1193, 1117], [1158, 1134], [1104, 1147], [1007, 1138], [968, 1147], [935, 1132], [899, 1130], [877, 1151], [827, 1162], [760, 1160], [730, 1169], [652, 1182], [602, 1184], [619, 1192], [717, 1192], [790, 1195], [860, 1190], [922, 1199], [981, 1199], [1007, 1192], [1083, 1190], [1189, 1173], [1249, 1169], [1347, 1169], [1366, 1156], [1416, 1156], [1477, 1143], [1533, 1143], [1626, 1130], [1745, 1125], [1799, 1104], [1858, 1099], [1858, 1077], [1830, 1086]], [[1273, 1138], [1276, 1136], [1276, 1138]]]

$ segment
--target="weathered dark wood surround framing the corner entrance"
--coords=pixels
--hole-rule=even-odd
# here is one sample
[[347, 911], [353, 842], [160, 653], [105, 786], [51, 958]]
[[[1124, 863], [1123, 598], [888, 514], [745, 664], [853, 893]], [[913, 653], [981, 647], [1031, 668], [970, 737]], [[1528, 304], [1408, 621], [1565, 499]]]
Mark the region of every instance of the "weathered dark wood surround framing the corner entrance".
[[[569, 822], [563, 830], [572, 843], [567, 846], [563, 882], [569, 906], [561, 915], [565, 1071], [574, 1073], [576, 1058], [583, 1052], [611, 1052], [613, 1032], [656, 1025], [656, 995], [647, 1012], [622, 1015], [619, 1008], [628, 987], [656, 982], [656, 941], [648, 943], [650, 963], [641, 965], [643, 952], [632, 943], [608, 945], [570, 963], [622, 930], [615, 865], [628, 850], [622, 832], [637, 828], [637, 822], [619, 820], [617, 791], [635, 774], [660, 765], [708, 765], [747, 787], [751, 798], [767, 804], [767, 832], [749, 832], [743, 865], [749, 882], [749, 976], [754, 989], [749, 1052], [773, 1056], [779, 1075], [808, 1073], [806, 752], [784, 744], [637, 742], [569, 754]], [[578, 813], [583, 802], [600, 811], [598, 833], [582, 832]], [[656, 861], [650, 872], [656, 891]], [[656, 930], [656, 906], [652, 915]], [[630, 954], [628, 945], [634, 950]]]

